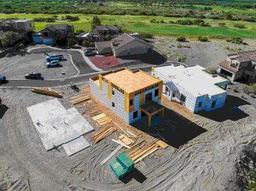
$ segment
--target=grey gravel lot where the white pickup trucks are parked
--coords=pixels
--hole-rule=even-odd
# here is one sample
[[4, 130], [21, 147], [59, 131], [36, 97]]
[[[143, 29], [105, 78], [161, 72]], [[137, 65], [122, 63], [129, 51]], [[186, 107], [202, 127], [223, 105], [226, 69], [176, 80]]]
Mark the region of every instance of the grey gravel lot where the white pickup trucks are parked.
[[[24, 56], [14, 56], [11, 58], [1, 58], [1, 75], [9, 79], [24, 79], [24, 75], [35, 71], [41, 73], [45, 79], [60, 79], [74, 77], [78, 71], [70, 61], [69, 54], [63, 54], [64, 60], [60, 61], [59, 66], [47, 68], [45, 55], [43, 54], [25, 54]], [[65, 72], [66, 75], [62, 75]]]

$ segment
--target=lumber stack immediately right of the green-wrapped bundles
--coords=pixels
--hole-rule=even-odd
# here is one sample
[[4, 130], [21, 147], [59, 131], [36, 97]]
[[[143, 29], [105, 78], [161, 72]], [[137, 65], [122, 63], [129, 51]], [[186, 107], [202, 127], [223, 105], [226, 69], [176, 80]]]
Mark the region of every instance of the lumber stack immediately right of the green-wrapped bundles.
[[156, 143], [152, 143], [146, 147], [139, 148], [131, 152], [128, 156], [136, 163], [140, 162], [143, 158], [146, 158], [146, 156], [152, 154], [158, 150], [158, 145]]

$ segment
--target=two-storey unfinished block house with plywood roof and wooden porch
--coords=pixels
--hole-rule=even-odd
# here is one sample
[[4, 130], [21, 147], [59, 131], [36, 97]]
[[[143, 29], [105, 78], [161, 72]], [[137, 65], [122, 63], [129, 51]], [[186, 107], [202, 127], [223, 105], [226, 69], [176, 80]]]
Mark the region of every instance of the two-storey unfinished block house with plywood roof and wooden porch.
[[[90, 78], [91, 94], [104, 103], [127, 124], [163, 111], [163, 81], [144, 71], [117, 69]], [[154, 110], [154, 111], [152, 111]]]

